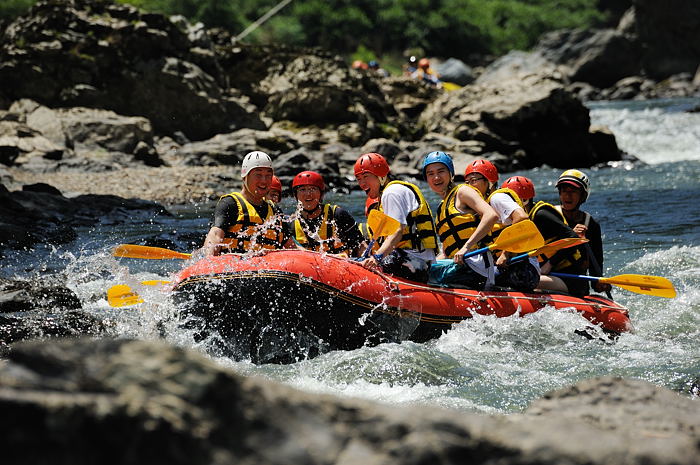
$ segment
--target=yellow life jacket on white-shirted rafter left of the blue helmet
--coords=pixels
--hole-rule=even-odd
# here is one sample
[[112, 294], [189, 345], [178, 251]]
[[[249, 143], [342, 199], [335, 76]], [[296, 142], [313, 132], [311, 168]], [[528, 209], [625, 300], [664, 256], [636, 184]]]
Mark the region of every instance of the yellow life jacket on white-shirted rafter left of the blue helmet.
[[[405, 181], [391, 181], [387, 183], [382, 190], [392, 184], [400, 184], [408, 187], [418, 201], [418, 208], [410, 212], [406, 217], [406, 226], [402, 229], [401, 242], [399, 242], [396, 247], [418, 251], [428, 249], [437, 251], [437, 235], [435, 233], [435, 223], [433, 222], [433, 212], [430, 211], [430, 205], [425, 201], [423, 193], [418, 186]], [[384, 212], [381, 201], [379, 204], [379, 211]]]

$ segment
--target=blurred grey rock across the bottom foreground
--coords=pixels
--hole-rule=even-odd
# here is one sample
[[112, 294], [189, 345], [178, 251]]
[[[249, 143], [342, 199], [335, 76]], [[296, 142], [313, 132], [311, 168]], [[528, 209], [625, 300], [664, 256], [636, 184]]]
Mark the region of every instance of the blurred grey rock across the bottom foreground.
[[147, 341], [16, 345], [0, 409], [7, 464], [700, 463], [700, 403], [644, 381], [481, 415], [304, 393]]

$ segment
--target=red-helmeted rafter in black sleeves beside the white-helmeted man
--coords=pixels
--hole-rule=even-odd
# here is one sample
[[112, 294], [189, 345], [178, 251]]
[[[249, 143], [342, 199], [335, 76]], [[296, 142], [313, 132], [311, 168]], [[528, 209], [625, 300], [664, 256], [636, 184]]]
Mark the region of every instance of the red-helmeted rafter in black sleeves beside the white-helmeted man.
[[364, 252], [364, 237], [355, 218], [337, 205], [323, 203], [326, 183], [315, 171], [302, 171], [292, 181], [299, 216], [291, 228], [296, 243], [305, 249], [345, 256]]

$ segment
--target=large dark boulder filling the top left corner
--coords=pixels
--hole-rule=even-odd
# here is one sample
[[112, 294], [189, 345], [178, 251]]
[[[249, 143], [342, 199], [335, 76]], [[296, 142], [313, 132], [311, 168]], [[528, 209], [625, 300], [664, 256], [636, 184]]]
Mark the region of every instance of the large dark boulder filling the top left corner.
[[6, 100], [140, 115], [192, 139], [264, 126], [181, 21], [109, 1], [38, 3], [5, 30], [0, 81]]

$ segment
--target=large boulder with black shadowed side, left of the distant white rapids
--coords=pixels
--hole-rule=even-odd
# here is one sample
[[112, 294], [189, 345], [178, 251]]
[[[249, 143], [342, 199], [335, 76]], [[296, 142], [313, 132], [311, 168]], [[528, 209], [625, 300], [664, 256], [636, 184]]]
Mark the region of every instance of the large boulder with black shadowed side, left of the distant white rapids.
[[[503, 75], [507, 76], [507, 75]], [[588, 109], [559, 81], [516, 73], [444, 95], [421, 115], [427, 131], [479, 141], [483, 153], [509, 156], [522, 168], [567, 168], [619, 160], [590, 140]]]

